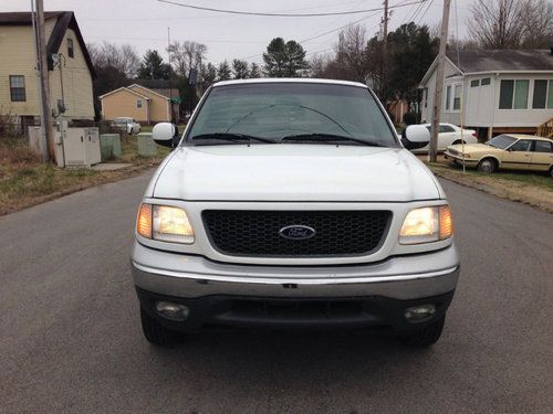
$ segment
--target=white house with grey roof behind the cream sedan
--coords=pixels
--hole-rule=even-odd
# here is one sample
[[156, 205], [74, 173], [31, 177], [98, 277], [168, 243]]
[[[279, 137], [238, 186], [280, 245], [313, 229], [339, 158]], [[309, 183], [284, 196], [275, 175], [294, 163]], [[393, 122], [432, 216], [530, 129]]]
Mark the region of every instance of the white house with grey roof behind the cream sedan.
[[[430, 121], [437, 60], [419, 84], [421, 119]], [[535, 134], [553, 118], [553, 49], [448, 51], [440, 120], [480, 138]]]

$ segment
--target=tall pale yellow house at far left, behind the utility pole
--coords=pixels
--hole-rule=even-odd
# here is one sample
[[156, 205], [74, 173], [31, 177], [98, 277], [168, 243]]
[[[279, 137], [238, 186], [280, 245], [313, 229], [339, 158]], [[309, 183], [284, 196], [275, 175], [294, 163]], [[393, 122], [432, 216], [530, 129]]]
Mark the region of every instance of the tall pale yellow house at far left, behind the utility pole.
[[[94, 67], [72, 11], [44, 13], [51, 106], [64, 119], [94, 119]], [[0, 116], [24, 128], [40, 123], [31, 13], [0, 13]]]

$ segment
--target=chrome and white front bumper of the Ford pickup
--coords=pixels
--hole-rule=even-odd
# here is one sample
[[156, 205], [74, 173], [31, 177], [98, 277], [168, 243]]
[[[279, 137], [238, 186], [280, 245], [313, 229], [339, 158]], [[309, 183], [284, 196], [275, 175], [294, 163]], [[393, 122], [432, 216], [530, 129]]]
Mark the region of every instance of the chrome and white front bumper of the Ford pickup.
[[201, 256], [161, 252], [135, 242], [135, 285], [182, 298], [211, 295], [324, 298], [383, 296], [418, 299], [455, 290], [459, 256], [453, 245], [424, 254], [342, 266], [230, 265]]

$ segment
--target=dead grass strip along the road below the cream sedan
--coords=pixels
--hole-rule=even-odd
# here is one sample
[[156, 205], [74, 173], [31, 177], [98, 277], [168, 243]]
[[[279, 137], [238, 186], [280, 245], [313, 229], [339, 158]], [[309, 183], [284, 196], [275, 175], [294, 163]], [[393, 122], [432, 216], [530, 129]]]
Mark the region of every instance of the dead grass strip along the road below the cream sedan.
[[553, 179], [545, 173], [498, 171], [486, 174], [471, 169], [463, 173], [460, 167], [447, 163], [428, 163], [428, 167], [436, 176], [461, 185], [553, 213]]

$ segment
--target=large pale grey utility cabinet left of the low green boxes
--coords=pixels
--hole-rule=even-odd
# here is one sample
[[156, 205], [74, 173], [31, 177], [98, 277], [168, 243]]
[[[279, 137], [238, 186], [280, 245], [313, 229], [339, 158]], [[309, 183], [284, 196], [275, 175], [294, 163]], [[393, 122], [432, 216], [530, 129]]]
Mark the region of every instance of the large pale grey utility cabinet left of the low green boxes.
[[98, 128], [65, 128], [61, 134], [65, 167], [91, 167], [102, 161]]

